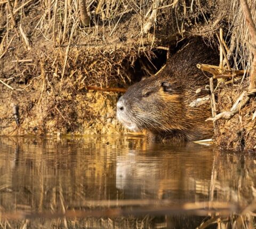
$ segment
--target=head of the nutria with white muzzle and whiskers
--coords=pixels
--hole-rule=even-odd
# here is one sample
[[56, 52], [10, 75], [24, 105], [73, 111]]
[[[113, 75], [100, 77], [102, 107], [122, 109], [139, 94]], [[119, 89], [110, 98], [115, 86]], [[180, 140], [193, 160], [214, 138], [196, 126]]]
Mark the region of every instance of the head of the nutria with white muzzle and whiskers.
[[117, 119], [132, 130], [151, 133], [185, 130], [183, 87], [177, 81], [149, 77], [129, 87], [117, 102]]

